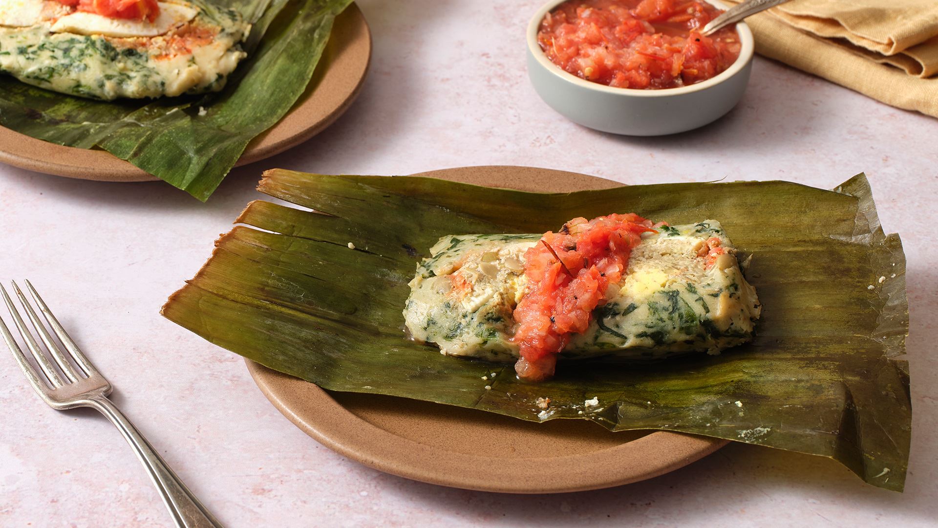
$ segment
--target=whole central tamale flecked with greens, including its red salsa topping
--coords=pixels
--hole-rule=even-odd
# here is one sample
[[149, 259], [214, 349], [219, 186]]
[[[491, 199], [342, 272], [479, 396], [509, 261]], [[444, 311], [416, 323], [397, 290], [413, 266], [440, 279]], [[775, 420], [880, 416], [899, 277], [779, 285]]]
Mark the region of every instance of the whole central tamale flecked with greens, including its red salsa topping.
[[761, 306], [719, 222], [577, 218], [544, 235], [440, 239], [417, 266], [410, 334], [444, 354], [517, 362], [661, 358], [749, 341]]

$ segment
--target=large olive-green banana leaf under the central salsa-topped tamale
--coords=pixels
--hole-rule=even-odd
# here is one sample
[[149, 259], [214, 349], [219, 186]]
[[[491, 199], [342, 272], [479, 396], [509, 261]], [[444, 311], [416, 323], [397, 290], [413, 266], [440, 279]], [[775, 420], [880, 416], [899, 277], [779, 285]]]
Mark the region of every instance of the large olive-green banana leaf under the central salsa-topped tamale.
[[[532, 194], [276, 169], [259, 189], [314, 211], [252, 202], [237, 222], [260, 229], [238, 225], [222, 236], [162, 309], [221, 347], [328, 390], [768, 445], [903, 487], [912, 412], [899, 359], [905, 258], [862, 174], [834, 191], [744, 181]], [[553, 380], [523, 383], [511, 365], [446, 357], [404, 338], [407, 282], [438, 237], [540, 233], [576, 216], [629, 211], [722, 223], [752, 256], [747, 276], [764, 306], [751, 344], [651, 364], [562, 364]], [[585, 407], [594, 396], [599, 405]], [[551, 398], [547, 412], [538, 397]]]

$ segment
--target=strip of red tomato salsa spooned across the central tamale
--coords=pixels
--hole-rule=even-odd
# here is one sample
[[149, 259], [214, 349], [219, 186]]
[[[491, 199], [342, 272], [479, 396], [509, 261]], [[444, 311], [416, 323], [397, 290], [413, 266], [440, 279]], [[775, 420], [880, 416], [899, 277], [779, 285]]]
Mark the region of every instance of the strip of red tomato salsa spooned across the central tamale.
[[520, 379], [553, 376], [557, 352], [567, 346], [570, 334], [586, 331], [593, 309], [606, 301], [606, 288], [628, 269], [628, 256], [642, 233], [657, 232], [659, 225], [634, 213], [574, 218], [527, 250], [524, 275], [530, 288], [514, 311]]

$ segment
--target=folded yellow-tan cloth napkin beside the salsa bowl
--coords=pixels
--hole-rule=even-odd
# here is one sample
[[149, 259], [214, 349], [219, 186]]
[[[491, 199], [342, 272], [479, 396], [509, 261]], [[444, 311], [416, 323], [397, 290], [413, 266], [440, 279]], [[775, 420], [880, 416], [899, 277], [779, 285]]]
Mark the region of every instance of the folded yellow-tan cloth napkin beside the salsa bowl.
[[938, 117], [938, 0], [793, 0], [746, 23], [759, 54]]

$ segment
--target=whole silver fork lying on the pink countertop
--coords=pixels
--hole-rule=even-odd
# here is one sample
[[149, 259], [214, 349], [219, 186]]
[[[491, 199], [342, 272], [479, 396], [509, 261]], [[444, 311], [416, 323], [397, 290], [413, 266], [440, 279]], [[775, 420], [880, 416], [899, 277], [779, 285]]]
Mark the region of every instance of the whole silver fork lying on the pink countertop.
[[[29, 281], [26, 281], [26, 287], [29, 289], [29, 293], [32, 294], [39, 311], [42, 312], [43, 318], [45, 318], [46, 322], [52, 328], [53, 333], [59, 338], [62, 345], [65, 346], [68, 355], [55, 344], [52, 334], [49, 334], [49, 331], [39, 320], [33, 307], [26, 301], [26, 297], [23, 295], [23, 291], [20, 290], [20, 287], [18, 287], [15, 282], [12, 283], [12, 286], [16, 296], [20, 299], [20, 303], [23, 304], [26, 317], [32, 322], [33, 328], [36, 329], [39, 335], [39, 339], [45, 345], [45, 349], [48, 350], [49, 355], [52, 356], [55, 362], [53, 366], [49, 361], [48, 355], [39, 347], [36, 338], [26, 328], [25, 323], [23, 323], [23, 318], [20, 317], [20, 313], [10, 300], [7, 289], [0, 285], [0, 292], [3, 293], [4, 302], [7, 303], [10, 316], [13, 317], [16, 328], [19, 329], [20, 334], [23, 335], [26, 348], [32, 352], [33, 358], [35, 358], [36, 364], [39, 366], [39, 371], [37, 371], [26, 359], [26, 356], [23, 355], [23, 350], [17, 345], [16, 340], [13, 339], [13, 335], [9, 333], [9, 329], [2, 318], [0, 318], [0, 334], [3, 334], [3, 339], [7, 342], [9, 350], [13, 352], [16, 363], [23, 369], [23, 374], [26, 375], [29, 384], [36, 389], [39, 397], [52, 406], [53, 409], [59, 411], [74, 409], [76, 407], [91, 407], [107, 416], [114, 427], [117, 427], [121, 434], [124, 435], [124, 439], [127, 440], [127, 443], [133, 447], [137, 458], [140, 458], [140, 461], [143, 462], [146, 473], [150, 475], [150, 479], [153, 480], [153, 483], [157, 486], [157, 489], [159, 489], [159, 495], [162, 497], [163, 502], [166, 503], [166, 507], [169, 508], [176, 526], [220, 527], [221, 523], [216, 520], [215, 517], [205, 509], [205, 506], [195, 498], [195, 495], [186, 488], [186, 485], [173, 473], [169, 465], [159, 457], [157, 451], [146, 441], [144, 435], [137, 430], [137, 427], [134, 427], [127, 416], [120, 412], [111, 400], [107, 398], [107, 396], [111, 394], [111, 383], [105, 380], [104, 377], [101, 376], [101, 373], [98, 372], [98, 369], [95, 368], [95, 365], [91, 365], [91, 362], [84, 357], [82, 350], [78, 349], [75, 342], [72, 341], [65, 329], [62, 328], [62, 325], [59, 324], [58, 320], [53, 316], [53, 313], [49, 310], [49, 306], [42, 302], [42, 298], [39, 297], [36, 288], [34, 288]], [[57, 371], [56, 366], [58, 367]], [[60, 372], [62, 375], [59, 375]], [[65, 380], [63, 380], [63, 376]]]

